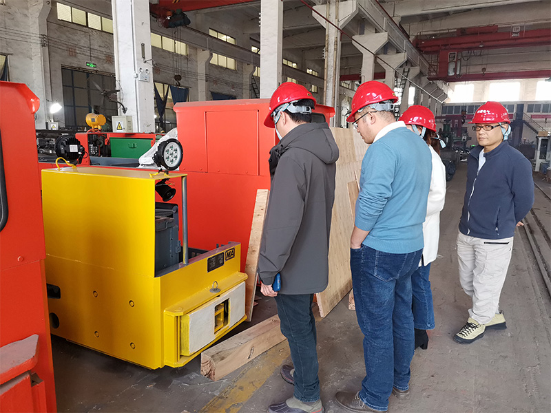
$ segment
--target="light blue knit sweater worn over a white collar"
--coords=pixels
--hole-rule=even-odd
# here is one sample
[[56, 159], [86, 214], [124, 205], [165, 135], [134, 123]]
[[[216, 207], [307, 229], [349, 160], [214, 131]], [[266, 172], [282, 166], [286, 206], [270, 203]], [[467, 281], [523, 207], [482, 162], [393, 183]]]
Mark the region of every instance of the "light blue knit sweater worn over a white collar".
[[368, 147], [355, 217], [359, 229], [370, 231], [364, 245], [394, 254], [423, 248], [431, 171], [428, 145], [405, 127]]

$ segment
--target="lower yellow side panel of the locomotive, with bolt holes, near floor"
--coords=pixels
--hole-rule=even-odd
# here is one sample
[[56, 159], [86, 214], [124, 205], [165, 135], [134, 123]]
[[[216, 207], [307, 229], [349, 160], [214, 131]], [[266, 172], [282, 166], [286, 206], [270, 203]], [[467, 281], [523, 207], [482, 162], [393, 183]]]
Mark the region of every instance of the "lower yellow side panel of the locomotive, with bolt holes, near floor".
[[162, 367], [160, 315], [155, 305], [160, 279], [132, 276], [59, 257], [46, 259], [48, 284], [60, 299], [49, 299], [59, 317], [52, 333], [148, 368]]

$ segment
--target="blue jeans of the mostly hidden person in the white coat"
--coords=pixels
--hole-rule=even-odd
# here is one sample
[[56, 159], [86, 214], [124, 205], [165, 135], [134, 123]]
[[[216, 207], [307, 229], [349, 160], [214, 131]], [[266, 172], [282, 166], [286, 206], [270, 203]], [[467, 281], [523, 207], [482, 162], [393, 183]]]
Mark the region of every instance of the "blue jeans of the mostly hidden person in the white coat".
[[435, 310], [433, 308], [433, 292], [430, 290], [428, 273], [430, 262], [420, 266], [411, 275], [411, 289], [413, 290], [413, 326], [419, 330], [435, 328]]

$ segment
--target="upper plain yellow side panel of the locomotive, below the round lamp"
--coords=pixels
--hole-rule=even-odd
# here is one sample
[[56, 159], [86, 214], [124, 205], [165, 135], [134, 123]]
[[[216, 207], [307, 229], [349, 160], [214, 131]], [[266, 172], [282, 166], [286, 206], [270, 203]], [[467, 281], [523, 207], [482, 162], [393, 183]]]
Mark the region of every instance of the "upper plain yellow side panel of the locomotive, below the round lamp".
[[42, 171], [46, 254], [154, 277], [155, 180], [80, 170]]

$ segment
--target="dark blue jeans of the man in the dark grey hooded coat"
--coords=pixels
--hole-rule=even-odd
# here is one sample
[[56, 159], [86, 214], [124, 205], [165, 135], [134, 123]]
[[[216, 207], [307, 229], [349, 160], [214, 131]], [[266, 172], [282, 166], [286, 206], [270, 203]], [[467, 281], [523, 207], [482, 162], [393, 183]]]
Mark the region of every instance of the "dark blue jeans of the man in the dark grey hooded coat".
[[294, 396], [300, 401], [320, 399], [318, 352], [315, 348], [315, 319], [312, 313], [313, 294], [281, 294], [275, 297], [282, 334], [289, 341], [295, 373]]

